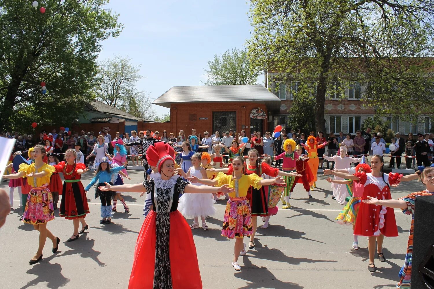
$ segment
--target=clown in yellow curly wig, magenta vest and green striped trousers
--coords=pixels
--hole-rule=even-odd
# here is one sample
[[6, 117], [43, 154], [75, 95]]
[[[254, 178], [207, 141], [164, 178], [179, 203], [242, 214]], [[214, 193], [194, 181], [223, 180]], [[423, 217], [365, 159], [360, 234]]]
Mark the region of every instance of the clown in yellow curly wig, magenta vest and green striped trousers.
[[[295, 152], [296, 142], [294, 140], [286, 139], [283, 143], [283, 149], [285, 150], [285, 152], [279, 154], [278, 156], [269, 156], [267, 154], [263, 156], [270, 157], [272, 160], [283, 159], [282, 170], [284, 172], [296, 172], [296, 160], [309, 159], [308, 156], [299, 156], [299, 154]], [[289, 204], [291, 187], [293, 186], [296, 177], [284, 176], [284, 179], [286, 183], [286, 188], [283, 191], [282, 196], [285, 196], [286, 200], [282, 198], [282, 208], [289, 209], [291, 208], [291, 204]]]

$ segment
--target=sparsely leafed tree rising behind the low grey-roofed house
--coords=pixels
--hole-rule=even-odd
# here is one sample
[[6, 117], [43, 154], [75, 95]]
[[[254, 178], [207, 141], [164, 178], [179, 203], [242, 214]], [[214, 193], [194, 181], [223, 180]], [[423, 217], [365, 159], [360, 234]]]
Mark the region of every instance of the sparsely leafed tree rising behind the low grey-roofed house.
[[140, 65], [133, 65], [127, 56], [116, 55], [113, 59], [106, 59], [99, 65], [94, 92], [99, 101], [136, 117], [152, 120], [155, 110], [149, 96], [136, 89], [137, 81], [142, 78], [139, 68]]

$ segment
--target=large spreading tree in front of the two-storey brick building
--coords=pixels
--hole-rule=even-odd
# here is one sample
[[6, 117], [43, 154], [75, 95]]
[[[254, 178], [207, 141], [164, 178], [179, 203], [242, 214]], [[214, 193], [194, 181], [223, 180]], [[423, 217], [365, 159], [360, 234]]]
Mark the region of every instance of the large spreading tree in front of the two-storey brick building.
[[316, 87], [316, 130], [331, 83], [329, 93], [368, 84], [362, 98], [378, 114], [419, 114], [434, 105], [433, 11], [431, 0], [252, 0], [249, 56], [270, 81]]

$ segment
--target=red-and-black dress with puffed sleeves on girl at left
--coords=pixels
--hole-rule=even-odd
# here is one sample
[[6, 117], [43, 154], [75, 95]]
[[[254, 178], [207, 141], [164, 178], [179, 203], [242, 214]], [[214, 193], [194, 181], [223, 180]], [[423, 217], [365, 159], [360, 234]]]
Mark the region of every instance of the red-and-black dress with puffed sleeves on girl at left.
[[68, 165], [65, 162], [59, 162], [54, 166], [57, 172], [63, 172], [62, 201], [60, 202], [59, 216], [66, 220], [80, 219], [89, 214], [87, 197], [80, 181], [81, 175], [77, 173], [78, 169], [85, 169], [83, 163]]

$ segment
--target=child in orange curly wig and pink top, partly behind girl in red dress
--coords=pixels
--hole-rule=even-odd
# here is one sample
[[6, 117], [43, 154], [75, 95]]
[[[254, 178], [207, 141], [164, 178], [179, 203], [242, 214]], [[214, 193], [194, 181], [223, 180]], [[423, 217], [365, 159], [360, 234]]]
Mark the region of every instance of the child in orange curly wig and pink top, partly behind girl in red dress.
[[[356, 167], [352, 167], [350, 169], [342, 169], [342, 170], [335, 170], [337, 172], [344, 172], [344, 173], [350, 173], [353, 175], [358, 174], [367, 174], [372, 172], [371, 167], [366, 163], [365, 156], [362, 156], [362, 160]], [[335, 184], [342, 184], [345, 185], [348, 193], [351, 198], [347, 197], [349, 199], [348, 204], [345, 205], [345, 207], [342, 209], [342, 211], [339, 213], [339, 215], [336, 217], [336, 221], [339, 224], [350, 224], [352, 225], [352, 229], [354, 232], [355, 227], [355, 220], [357, 218], [358, 209], [360, 207], [360, 203], [362, 202], [363, 197], [363, 185], [358, 182], [353, 182], [350, 179], [344, 179], [344, 180], [333, 180], [333, 179], [326, 179], [327, 182], [335, 183]], [[354, 250], [358, 250], [358, 239], [357, 235], [354, 235], [354, 242], [352, 244], [352, 248]]]

